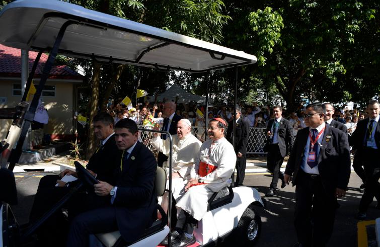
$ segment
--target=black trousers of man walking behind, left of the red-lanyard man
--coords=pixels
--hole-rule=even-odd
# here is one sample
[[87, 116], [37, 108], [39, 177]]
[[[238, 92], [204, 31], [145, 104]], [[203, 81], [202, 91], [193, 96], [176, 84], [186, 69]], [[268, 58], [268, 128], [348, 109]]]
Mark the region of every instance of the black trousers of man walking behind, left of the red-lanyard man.
[[273, 178], [269, 188], [276, 189], [278, 179], [281, 179], [281, 181], [284, 180], [284, 174], [280, 171], [283, 161], [284, 157], [281, 155], [278, 144], [270, 144], [268, 146], [267, 168], [271, 173], [273, 173]]

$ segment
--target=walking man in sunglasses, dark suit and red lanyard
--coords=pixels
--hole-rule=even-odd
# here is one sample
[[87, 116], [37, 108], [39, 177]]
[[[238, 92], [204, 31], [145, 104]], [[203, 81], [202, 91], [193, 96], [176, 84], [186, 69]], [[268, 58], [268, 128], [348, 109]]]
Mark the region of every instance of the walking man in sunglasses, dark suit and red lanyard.
[[307, 106], [309, 127], [298, 131], [285, 169], [285, 182], [295, 185], [298, 246], [326, 245], [333, 232], [337, 198], [345, 196], [350, 178], [347, 135], [327, 125], [323, 112], [321, 104]]

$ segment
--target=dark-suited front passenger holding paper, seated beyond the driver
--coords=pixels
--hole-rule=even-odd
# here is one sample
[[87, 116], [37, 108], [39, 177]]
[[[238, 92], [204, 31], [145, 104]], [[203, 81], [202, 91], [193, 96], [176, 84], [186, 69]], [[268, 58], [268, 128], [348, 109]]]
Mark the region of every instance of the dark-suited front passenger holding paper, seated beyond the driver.
[[[113, 122], [113, 118], [108, 113], [99, 113], [94, 117], [94, 132], [100, 143], [99, 147], [90, 158], [87, 166], [89, 172], [96, 176], [97, 179], [107, 181], [109, 183], [113, 183], [114, 180], [113, 171], [116, 164], [114, 160], [118, 153], [114, 137]], [[75, 172], [71, 170], [64, 170], [59, 174], [59, 176], [48, 175], [41, 179], [30, 213], [29, 220], [31, 223], [38, 220], [69, 192], [70, 187], [67, 187], [67, 184], [64, 181], [73, 180], [73, 177], [75, 176]], [[59, 180], [61, 178], [64, 178], [63, 181]], [[56, 187], [55, 185], [58, 186]], [[77, 215], [82, 211], [88, 210], [89, 207], [94, 208], [99, 206], [99, 204], [101, 204], [100, 201], [98, 201], [97, 204], [92, 203], [93, 197], [95, 197], [93, 192], [79, 192], [74, 194], [73, 197], [67, 202], [67, 205], [65, 205], [65, 207], [70, 210], [70, 218], [71, 216]], [[43, 236], [43, 239], [46, 240], [47, 245], [49, 244], [49, 239], [54, 239], [56, 237], [52, 229], [57, 229], [56, 225], [60, 225], [59, 223], [57, 224], [57, 222], [65, 222], [63, 219], [63, 214], [60, 210], [45, 221], [38, 231], [38, 233]], [[49, 234], [46, 234], [46, 232]], [[59, 229], [55, 232], [58, 234]], [[46, 236], [51, 237], [49, 238]], [[44, 245], [44, 243], [40, 244]]]

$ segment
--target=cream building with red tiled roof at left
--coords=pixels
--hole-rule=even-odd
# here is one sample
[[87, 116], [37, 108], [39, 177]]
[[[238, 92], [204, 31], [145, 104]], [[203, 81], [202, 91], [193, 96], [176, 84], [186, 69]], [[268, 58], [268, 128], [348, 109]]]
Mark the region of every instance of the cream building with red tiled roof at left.
[[[32, 70], [37, 52], [29, 51], [29, 71]], [[33, 83], [37, 87], [48, 55], [42, 54]], [[66, 65], [54, 65], [42, 91], [42, 101], [48, 111], [49, 121], [44, 134], [51, 139], [71, 139], [76, 123], [74, 109], [77, 106], [77, 89], [84, 76]], [[21, 50], [0, 44], [0, 109], [15, 108], [21, 100]], [[4, 139], [11, 120], [0, 120], [0, 137]]]

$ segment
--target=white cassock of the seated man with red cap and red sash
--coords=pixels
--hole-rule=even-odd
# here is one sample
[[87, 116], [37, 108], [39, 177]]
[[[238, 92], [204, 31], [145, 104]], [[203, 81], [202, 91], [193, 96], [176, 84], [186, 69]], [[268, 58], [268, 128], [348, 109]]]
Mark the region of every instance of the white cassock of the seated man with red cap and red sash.
[[[200, 177], [201, 162], [214, 166], [215, 170]], [[201, 220], [207, 211], [207, 201], [212, 194], [230, 186], [235, 164], [236, 153], [227, 139], [223, 137], [216, 141], [205, 141], [200, 147], [200, 152], [194, 161], [194, 169], [191, 171], [191, 178], [196, 180], [200, 178], [204, 184], [191, 187], [176, 206], [191, 214], [196, 220]]]

